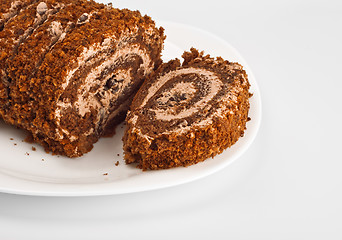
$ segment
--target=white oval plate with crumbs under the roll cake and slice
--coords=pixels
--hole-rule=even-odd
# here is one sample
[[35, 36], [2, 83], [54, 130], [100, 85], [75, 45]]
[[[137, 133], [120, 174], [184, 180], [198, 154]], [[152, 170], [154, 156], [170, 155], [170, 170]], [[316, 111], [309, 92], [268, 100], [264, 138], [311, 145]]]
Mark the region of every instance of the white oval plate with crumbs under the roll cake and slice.
[[[251, 83], [250, 117], [245, 136], [213, 159], [187, 168], [141, 171], [126, 165], [122, 153], [123, 126], [112, 138], [103, 138], [85, 156], [69, 159], [52, 156], [37, 144], [23, 142], [25, 133], [0, 121], [0, 191], [40, 196], [91, 196], [123, 194], [165, 188], [212, 174], [237, 159], [254, 140], [261, 120], [257, 83], [240, 54], [222, 39], [186, 25], [158, 22], [166, 29], [164, 60], [180, 58], [196, 47], [212, 56], [240, 62]], [[11, 138], [13, 140], [11, 140]], [[32, 147], [36, 150], [33, 151]], [[115, 163], [119, 161], [119, 165]]]

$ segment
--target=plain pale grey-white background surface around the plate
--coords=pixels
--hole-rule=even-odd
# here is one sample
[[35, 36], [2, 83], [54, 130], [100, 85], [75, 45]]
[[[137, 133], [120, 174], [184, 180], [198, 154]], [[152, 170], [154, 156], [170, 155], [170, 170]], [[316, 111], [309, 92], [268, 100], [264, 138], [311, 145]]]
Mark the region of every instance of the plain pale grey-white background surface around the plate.
[[259, 83], [259, 134], [232, 165], [177, 187], [0, 194], [1, 239], [342, 239], [342, 2], [113, 5], [202, 28], [237, 48]]

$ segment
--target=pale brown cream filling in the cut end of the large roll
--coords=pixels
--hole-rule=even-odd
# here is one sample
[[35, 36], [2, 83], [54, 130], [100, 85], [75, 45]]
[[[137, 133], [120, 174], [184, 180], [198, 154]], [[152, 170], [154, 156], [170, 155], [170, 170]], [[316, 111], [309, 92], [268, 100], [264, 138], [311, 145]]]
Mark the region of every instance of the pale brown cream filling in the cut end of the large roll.
[[[72, 79], [74, 73], [81, 68], [82, 66], [85, 66], [86, 64], [93, 64], [98, 59], [103, 59], [103, 57], [99, 56], [99, 54], [104, 51], [105, 49], [108, 49], [110, 47], [110, 43], [113, 41], [113, 39], [106, 39], [103, 41], [101, 45], [96, 44], [95, 46], [91, 46], [88, 49], [85, 49], [81, 56], [78, 58], [78, 64], [77, 67], [73, 70], [71, 70], [66, 77], [66, 82], [63, 84], [63, 88], [65, 89], [67, 87], [67, 84], [70, 83], [70, 80]], [[119, 44], [118, 44], [119, 45]], [[102, 54], [107, 54], [106, 52]], [[128, 86], [128, 84], [131, 82], [131, 68], [129, 69], [118, 69], [117, 71], [113, 71], [113, 73], [109, 74], [105, 79], [101, 79], [96, 81], [96, 79], [99, 79], [101, 77], [101, 73], [106, 71], [108, 68], [110, 68], [118, 59], [122, 58], [123, 61], [129, 59], [131, 56], [139, 56], [142, 59], [142, 64], [140, 65], [139, 69], [143, 69], [144, 74], [148, 74], [153, 69], [153, 64], [151, 64], [151, 59], [146, 50], [140, 49], [138, 45], [127, 45], [123, 46], [122, 48], [118, 49], [113, 55], [111, 55], [108, 59], [106, 59], [103, 63], [101, 63], [99, 66], [94, 68], [87, 77], [84, 80], [84, 83], [77, 91], [77, 100], [75, 103], [71, 102], [63, 102], [59, 101], [57, 102], [57, 108], [55, 111], [55, 117], [56, 122], [58, 125], [58, 128], [56, 129], [56, 134], [59, 139], [63, 139], [63, 133], [68, 135], [69, 139], [76, 140], [76, 138], [72, 138], [70, 136], [71, 134], [64, 128], [60, 126], [60, 120], [61, 120], [61, 112], [63, 109], [76, 107], [78, 114], [80, 116], [84, 116], [86, 113], [90, 112], [92, 109], [95, 109], [97, 111], [97, 120], [96, 120], [96, 126], [97, 128], [100, 127], [102, 124], [106, 124], [110, 119], [113, 118], [115, 114], [117, 113], [110, 113], [110, 103], [113, 102], [114, 99], [117, 99], [120, 94], [124, 91], [124, 89]], [[96, 56], [96, 57], [95, 57]], [[89, 60], [89, 61], [87, 61]], [[106, 87], [106, 81], [115, 74], [116, 79], [122, 79], [123, 81], [120, 81], [116, 83], [115, 87], [118, 87], [119, 89], [116, 92], [112, 92], [109, 90], [104, 90]], [[99, 86], [100, 85], [100, 86]], [[99, 86], [95, 92], [90, 92], [90, 89], [93, 87]], [[97, 94], [102, 93], [101, 99], [98, 99]], [[122, 106], [124, 107], [124, 106]], [[119, 107], [120, 108], [120, 107]], [[118, 109], [119, 109], [118, 108]], [[120, 111], [120, 110], [118, 110]], [[114, 114], [114, 115], [113, 115]], [[105, 119], [101, 120], [101, 116], [107, 116]], [[90, 129], [86, 135], [89, 135], [94, 132], [94, 129]]]

